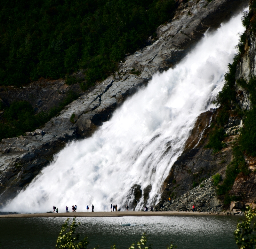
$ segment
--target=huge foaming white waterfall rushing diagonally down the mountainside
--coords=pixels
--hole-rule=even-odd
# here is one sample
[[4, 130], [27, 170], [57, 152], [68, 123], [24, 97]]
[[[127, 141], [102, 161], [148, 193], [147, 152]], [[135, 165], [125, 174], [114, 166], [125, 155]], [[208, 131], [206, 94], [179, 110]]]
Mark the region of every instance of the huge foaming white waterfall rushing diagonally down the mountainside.
[[[154, 205], [196, 118], [214, 107], [238, 32], [244, 32], [241, 16], [206, 32], [175, 68], [154, 75], [92, 137], [66, 146], [4, 210], [46, 212], [54, 205], [65, 212], [76, 204], [86, 211], [93, 204], [94, 211], [108, 211], [112, 203], [123, 211], [134, 199], [134, 184], [151, 189], [147, 205]], [[142, 197], [136, 210], [143, 204]]]

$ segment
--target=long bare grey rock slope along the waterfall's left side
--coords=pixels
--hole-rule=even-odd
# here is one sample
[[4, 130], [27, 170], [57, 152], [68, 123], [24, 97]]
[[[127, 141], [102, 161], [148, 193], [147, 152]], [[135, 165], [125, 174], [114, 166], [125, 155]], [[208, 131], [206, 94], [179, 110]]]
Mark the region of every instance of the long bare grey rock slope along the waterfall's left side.
[[[68, 141], [90, 136], [102, 122], [111, 118], [111, 113], [127, 96], [145, 86], [153, 74], [174, 66], [209, 27], [218, 27], [233, 12], [247, 4], [247, 1], [213, 0], [209, 3], [206, 0], [190, 0], [180, 1], [179, 4], [172, 21], [158, 27], [157, 41], [127, 56], [124, 62], [120, 62], [116, 74], [67, 105], [58, 117], [45, 125], [42, 129], [44, 132], [38, 131], [34, 133], [35, 136], [20, 136], [1, 141], [0, 203], [4, 204], [26, 187], [42, 167], [49, 164], [54, 153]], [[70, 121], [73, 113], [75, 124]], [[206, 123], [204, 126], [207, 126]], [[198, 133], [196, 130], [194, 132]], [[196, 137], [192, 139], [187, 149], [192, 148], [199, 140]], [[197, 163], [200, 167], [201, 161], [212, 160], [211, 150], [204, 152], [202, 148], [196, 148], [191, 153], [193, 155], [190, 158], [195, 155], [198, 157], [198, 162], [190, 162], [191, 172], [193, 164]], [[180, 165], [183, 165], [182, 160]], [[209, 172], [212, 172], [212, 168], [209, 163]], [[194, 169], [193, 173], [196, 173]], [[187, 189], [184, 188], [184, 191]]]

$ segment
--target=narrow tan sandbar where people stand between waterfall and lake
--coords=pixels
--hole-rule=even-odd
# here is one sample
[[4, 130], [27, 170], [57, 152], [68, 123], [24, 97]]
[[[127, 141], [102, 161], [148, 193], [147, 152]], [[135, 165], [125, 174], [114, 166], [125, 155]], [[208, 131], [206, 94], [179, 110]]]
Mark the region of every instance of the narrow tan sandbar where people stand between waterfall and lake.
[[120, 216], [172, 216], [172, 215], [221, 215], [225, 213], [198, 213], [198, 212], [77, 212], [77, 213], [38, 213], [38, 214], [5, 214], [0, 218], [31, 218], [31, 217], [120, 217]]

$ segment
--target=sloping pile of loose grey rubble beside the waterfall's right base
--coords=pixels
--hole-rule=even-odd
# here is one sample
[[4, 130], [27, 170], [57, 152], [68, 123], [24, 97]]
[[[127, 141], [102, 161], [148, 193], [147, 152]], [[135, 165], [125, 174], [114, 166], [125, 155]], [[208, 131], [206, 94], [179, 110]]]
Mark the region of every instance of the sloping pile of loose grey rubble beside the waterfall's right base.
[[195, 205], [197, 212], [221, 212], [222, 205], [217, 198], [212, 177], [203, 181], [200, 186], [193, 188], [184, 195], [164, 202], [158, 211], [192, 211]]

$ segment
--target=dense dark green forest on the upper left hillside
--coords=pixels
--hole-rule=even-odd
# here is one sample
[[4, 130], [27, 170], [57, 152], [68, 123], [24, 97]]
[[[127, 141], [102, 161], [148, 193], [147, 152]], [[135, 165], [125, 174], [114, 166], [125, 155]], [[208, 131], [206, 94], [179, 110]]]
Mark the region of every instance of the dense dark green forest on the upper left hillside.
[[155, 37], [174, 8], [174, 0], [1, 1], [0, 85], [59, 79], [84, 69], [81, 87], [87, 89]]

